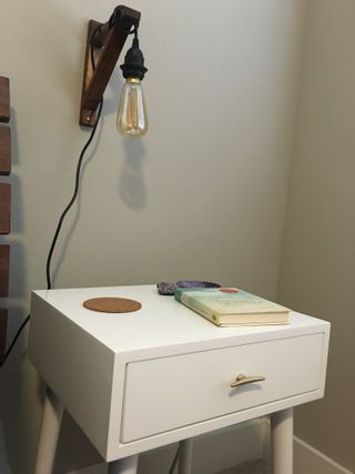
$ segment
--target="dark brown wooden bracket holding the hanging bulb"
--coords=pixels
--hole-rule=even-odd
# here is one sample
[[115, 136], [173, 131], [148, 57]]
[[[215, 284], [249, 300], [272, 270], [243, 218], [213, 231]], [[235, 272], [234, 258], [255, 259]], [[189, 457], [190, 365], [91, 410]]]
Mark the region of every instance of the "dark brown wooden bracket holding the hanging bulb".
[[140, 19], [139, 11], [119, 6], [106, 23], [89, 21], [79, 120], [81, 125], [94, 125], [97, 109], [126, 37], [132, 28], [139, 27]]

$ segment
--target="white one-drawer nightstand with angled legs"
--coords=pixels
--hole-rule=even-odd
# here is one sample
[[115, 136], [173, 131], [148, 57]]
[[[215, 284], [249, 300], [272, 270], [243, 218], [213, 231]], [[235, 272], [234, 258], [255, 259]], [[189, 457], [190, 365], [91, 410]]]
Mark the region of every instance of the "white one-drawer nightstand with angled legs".
[[[134, 313], [85, 310], [90, 297], [138, 300]], [[290, 325], [217, 327], [156, 289], [119, 286], [32, 295], [30, 357], [51, 392], [36, 474], [51, 474], [63, 407], [110, 474], [135, 474], [139, 453], [272, 415], [274, 474], [292, 474], [293, 407], [323, 396], [329, 323], [292, 313]], [[239, 374], [264, 381], [231, 389]]]

